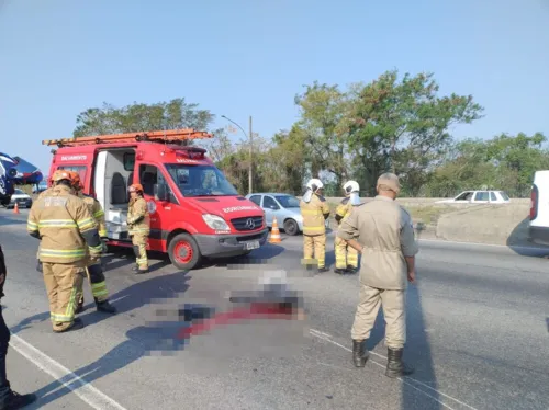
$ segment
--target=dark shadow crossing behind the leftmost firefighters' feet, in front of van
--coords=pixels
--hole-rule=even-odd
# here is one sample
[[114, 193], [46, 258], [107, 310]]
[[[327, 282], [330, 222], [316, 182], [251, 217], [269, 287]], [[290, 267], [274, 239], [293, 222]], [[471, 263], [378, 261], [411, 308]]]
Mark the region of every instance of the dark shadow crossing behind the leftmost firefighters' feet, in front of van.
[[[148, 304], [158, 303], [160, 299], [179, 298], [189, 288], [187, 284], [189, 280], [190, 276], [188, 276], [187, 272], [155, 276], [116, 292], [109, 299], [116, 307], [119, 315], [127, 314]], [[82, 311], [78, 317], [82, 318], [86, 326], [97, 324], [111, 318], [111, 315], [97, 311], [94, 304], [88, 304], [85, 307], [87, 310]], [[12, 334], [16, 334], [30, 328], [33, 323], [44, 320], [49, 320], [49, 311], [26, 318], [10, 329], [10, 331]]]

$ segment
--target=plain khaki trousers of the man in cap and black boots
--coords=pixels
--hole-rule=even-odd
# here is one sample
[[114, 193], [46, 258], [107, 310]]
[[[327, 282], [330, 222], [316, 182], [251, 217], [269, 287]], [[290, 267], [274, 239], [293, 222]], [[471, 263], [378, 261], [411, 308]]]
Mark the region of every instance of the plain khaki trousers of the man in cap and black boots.
[[406, 342], [405, 291], [378, 289], [360, 285], [360, 300], [352, 323], [354, 340], [366, 340], [378, 317], [380, 305], [385, 318], [385, 344], [391, 349], [402, 349]]

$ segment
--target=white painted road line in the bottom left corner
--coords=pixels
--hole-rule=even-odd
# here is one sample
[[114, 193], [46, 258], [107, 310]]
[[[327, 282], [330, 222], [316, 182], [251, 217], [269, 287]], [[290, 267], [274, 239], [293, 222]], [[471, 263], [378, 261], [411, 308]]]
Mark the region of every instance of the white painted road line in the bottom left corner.
[[52, 357], [34, 348], [32, 344], [25, 342], [19, 335], [11, 335], [10, 345], [41, 371], [47, 373], [56, 379], [56, 381], [77, 395], [91, 408], [96, 410], [127, 410], [114, 399], [111, 399], [109, 396], [94, 388], [91, 384], [70, 372], [67, 367], [57, 363]]

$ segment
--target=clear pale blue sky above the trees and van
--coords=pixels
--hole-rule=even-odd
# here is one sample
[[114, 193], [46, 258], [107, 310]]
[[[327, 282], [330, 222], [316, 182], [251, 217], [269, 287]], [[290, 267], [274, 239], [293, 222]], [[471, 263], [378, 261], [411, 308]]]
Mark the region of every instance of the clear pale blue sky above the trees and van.
[[303, 84], [393, 68], [485, 106], [458, 137], [549, 134], [548, 26], [546, 0], [0, 0], [0, 151], [47, 173], [81, 111], [180, 96], [270, 137]]

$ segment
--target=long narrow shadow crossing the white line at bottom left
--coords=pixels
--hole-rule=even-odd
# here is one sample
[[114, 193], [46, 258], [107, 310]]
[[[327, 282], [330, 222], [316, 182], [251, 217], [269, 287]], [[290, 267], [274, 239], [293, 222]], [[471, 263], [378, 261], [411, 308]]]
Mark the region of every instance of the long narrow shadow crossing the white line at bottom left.
[[[188, 339], [177, 340], [175, 337], [181, 328], [181, 322], [163, 322], [163, 327], [137, 327], [126, 332], [127, 340], [120, 343], [96, 362], [75, 371], [81, 379], [67, 375], [35, 391], [38, 397], [29, 409], [40, 409], [65, 395], [69, 389], [78, 389], [85, 383], [93, 383], [104, 376], [124, 368], [137, 360], [150, 355], [173, 355], [184, 350]], [[68, 387], [67, 387], [68, 386]], [[159, 406], [161, 408], [161, 406]]]

